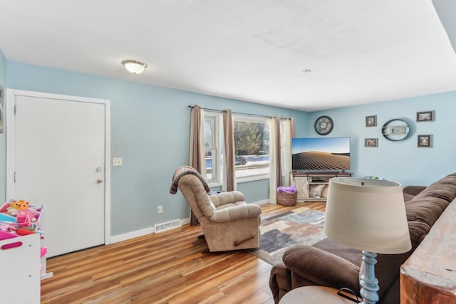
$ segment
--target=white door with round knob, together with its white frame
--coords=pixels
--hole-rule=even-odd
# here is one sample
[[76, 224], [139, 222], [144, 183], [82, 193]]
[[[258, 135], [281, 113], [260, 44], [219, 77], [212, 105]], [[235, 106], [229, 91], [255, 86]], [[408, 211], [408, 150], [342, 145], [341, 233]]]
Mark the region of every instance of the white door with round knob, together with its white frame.
[[106, 243], [105, 102], [14, 94], [15, 114], [8, 120], [14, 154], [7, 155], [14, 158], [14, 174], [7, 195], [44, 205], [48, 256]]

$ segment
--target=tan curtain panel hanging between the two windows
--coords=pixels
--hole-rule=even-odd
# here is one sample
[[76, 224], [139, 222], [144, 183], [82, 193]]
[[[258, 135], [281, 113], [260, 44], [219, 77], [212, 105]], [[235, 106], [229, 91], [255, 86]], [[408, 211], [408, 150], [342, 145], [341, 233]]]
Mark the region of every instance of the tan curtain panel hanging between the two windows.
[[[224, 135], [224, 190], [236, 190], [236, 171], [234, 168], [234, 125], [231, 110], [223, 110], [223, 135]], [[226, 185], [225, 185], [226, 182]]]

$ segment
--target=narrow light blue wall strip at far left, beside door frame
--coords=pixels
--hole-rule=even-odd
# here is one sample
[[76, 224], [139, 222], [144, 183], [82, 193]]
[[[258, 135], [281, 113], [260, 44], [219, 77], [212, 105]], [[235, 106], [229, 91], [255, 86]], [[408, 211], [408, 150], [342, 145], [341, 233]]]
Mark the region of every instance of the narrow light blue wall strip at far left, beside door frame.
[[[6, 90], [6, 58], [3, 51], [0, 49], [0, 85]], [[4, 100], [6, 100], [6, 92], [4, 92]], [[5, 110], [5, 107], [4, 109]], [[6, 194], [6, 130], [5, 130], [4, 114], [4, 132], [0, 133], [0, 200], [3, 200]], [[0, 204], [2, 201], [0, 201]]]

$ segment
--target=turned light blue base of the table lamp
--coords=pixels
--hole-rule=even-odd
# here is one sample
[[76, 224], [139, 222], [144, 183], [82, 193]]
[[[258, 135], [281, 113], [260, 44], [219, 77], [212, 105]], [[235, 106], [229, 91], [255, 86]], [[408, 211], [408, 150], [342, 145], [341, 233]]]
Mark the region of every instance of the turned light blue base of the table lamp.
[[378, 290], [380, 290], [380, 287], [378, 286], [377, 278], [375, 278], [376, 256], [377, 253], [363, 251], [365, 267], [359, 283], [361, 285], [361, 297], [363, 297], [366, 304], [375, 304], [378, 302]]

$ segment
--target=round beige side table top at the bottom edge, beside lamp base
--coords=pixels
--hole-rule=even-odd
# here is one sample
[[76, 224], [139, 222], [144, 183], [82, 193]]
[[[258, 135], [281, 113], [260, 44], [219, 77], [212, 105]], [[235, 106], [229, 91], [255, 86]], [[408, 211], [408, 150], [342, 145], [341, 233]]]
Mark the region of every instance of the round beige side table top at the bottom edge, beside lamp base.
[[355, 302], [338, 295], [336, 288], [324, 286], [304, 286], [295, 288], [294, 290], [286, 293], [286, 295], [284, 295], [279, 302], [279, 304], [296, 303], [355, 304]]

